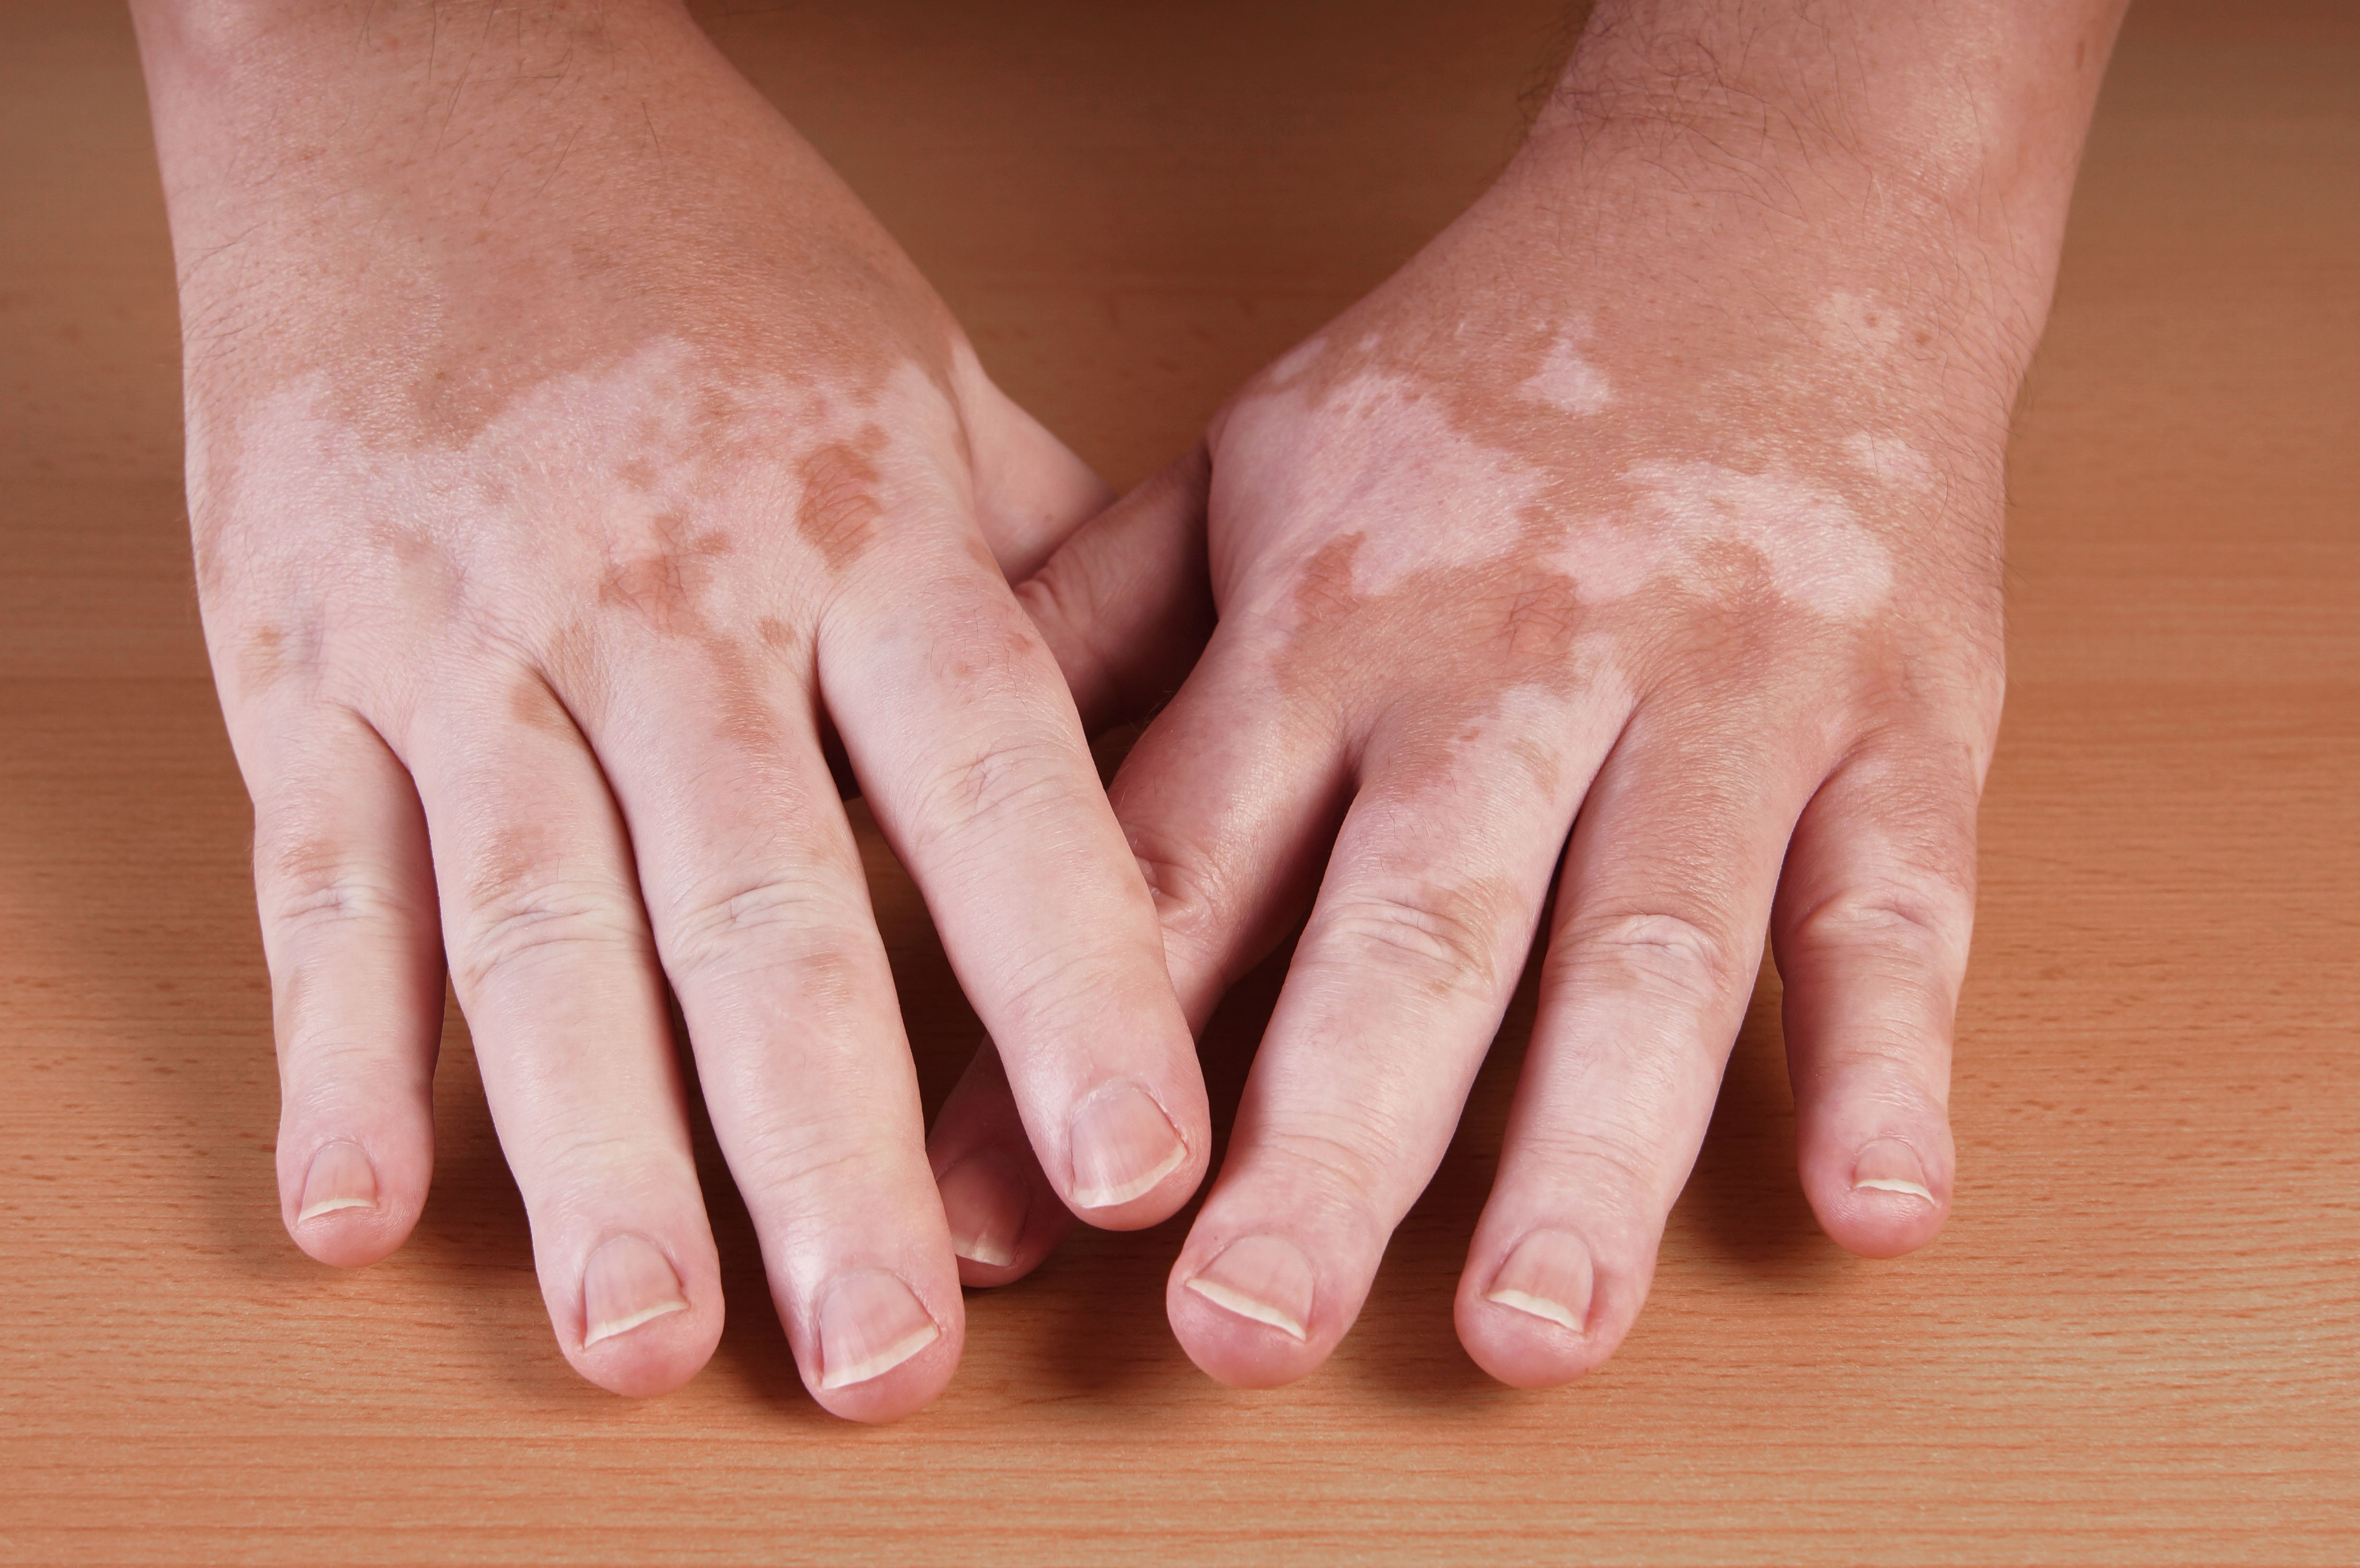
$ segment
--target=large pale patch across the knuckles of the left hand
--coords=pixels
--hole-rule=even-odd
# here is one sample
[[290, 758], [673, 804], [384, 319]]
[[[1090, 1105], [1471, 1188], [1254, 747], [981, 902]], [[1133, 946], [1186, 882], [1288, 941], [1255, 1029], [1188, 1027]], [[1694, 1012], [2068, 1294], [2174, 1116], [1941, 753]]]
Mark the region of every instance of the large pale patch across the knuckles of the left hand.
[[[897, 366], [873, 397], [852, 397], [784, 375], [715, 383], [680, 340], [550, 378], [465, 442], [385, 439], [337, 409], [326, 373], [307, 375], [243, 420], [236, 475], [194, 477], [229, 479], [229, 494], [205, 498], [227, 522], [212, 555], [229, 605], [316, 616], [337, 600], [345, 609], [323, 621], [375, 647], [427, 631], [385, 616], [448, 614], [460, 600], [472, 619], [529, 645], [543, 616], [595, 597], [616, 569], [694, 553], [708, 534], [708, 548], [734, 550], [734, 562], [710, 574], [706, 609], [753, 626], [779, 602], [776, 574], [809, 569], [812, 550], [788, 522], [802, 501], [798, 460], [904, 432], [866, 456], [876, 501], [892, 512], [942, 484], [906, 432], [951, 418], [916, 364]], [[734, 529], [729, 543], [722, 529]], [[368, 534], [378, 541], [356, 548]], [[772, 534], [784, 536], [776, 548]], [[420, 600], [420, 571], [441, 579], [441, 605]]]

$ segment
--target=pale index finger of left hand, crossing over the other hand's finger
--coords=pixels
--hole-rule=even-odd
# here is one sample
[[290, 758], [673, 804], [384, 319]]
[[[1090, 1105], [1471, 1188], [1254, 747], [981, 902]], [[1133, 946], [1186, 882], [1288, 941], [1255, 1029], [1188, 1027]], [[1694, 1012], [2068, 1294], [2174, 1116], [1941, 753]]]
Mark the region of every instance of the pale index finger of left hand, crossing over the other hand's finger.
[[1057, 1193], [1100, 1226], [1168, 1216], [1204, 1176], [1204, 1079], [1038, 631], [958, 555], [847, 586], [819, 682]]

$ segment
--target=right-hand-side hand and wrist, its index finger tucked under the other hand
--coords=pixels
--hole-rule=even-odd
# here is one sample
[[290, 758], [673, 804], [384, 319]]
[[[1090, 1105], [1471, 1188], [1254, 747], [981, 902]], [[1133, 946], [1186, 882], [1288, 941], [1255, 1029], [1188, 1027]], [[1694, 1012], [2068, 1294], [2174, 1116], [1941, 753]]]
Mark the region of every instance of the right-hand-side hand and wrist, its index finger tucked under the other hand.
[[[1171, 1273], [1213, 1377], [1352, 1325], [1543, 912], [1456, 1304], [1489, 1372], [1628, 1332], [1765, 930], [1822, 1226], [1942, 1226], [2006, 420], [2112, 17], [1980, 7], [2011, 99], [1930, 14], [1831, 21], [1867, 85], [1817, 83], [1791, 9], [1598, 7], [1508, 175], [1027, 588], [1088, 690], [1119, 562], [1208, 517], [1218, 631], [1112, 786], [1192, 1023], [1310, 902]], [[1838, 87], [1846, 137], [1794, 111]], [[968, 1282], [1031, 1268], [1062, 1216], [989, 1051], [930, 1148]]]

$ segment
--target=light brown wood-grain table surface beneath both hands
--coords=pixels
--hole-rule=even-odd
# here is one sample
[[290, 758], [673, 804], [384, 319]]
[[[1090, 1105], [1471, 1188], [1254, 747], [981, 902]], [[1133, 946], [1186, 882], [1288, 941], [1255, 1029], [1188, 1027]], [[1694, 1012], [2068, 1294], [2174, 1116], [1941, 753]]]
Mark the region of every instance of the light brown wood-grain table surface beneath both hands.
[[[1119, 482], [1440, 227], [1565, 47], [1555, 0], [710, 19]], [[951, 1391], [857, 1429], [710, 1159], [720, 1355], [654, 1403], [566, 1370], [455, 1018], [415, 1240], [281, 1233], [130, 28], [0, 5], [0, 1561], [2360, 1559], [2355, 83], [2348, 5], [2122, 45], [2015, 442], [1940, 1244], [1812, 1228], [1770, 980], [1628, 1346], [1489, 1384], [1449, 1292], [1527, 997], [1310, 1381], [1189, 1367], [1175, 1221], [975, 1296]], [[939, 1096], [972, 1020], [873, 874]]]

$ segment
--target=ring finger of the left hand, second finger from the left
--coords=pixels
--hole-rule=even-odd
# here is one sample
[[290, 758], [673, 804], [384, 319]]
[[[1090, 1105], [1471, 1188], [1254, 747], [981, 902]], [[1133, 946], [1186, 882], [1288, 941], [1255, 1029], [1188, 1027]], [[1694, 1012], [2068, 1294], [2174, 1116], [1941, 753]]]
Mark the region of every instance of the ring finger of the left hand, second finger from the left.
[[545, 687], [413, 725], [451, 980], [566, 1360], [663, 1393], [713, 1353], [720, 1270], [630, 845]]

